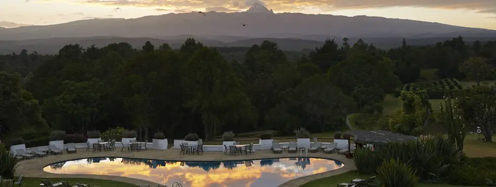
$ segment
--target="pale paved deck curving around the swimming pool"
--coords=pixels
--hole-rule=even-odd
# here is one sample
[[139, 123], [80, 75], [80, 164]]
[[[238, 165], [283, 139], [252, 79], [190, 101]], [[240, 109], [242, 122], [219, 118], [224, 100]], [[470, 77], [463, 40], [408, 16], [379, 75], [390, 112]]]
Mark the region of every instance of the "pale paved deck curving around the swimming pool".
[[[17, 167], [17, 174], [22, 174], [27, 177], [39, 177], [39, 178], [95, 178], [95, 179], [107, 179], [115, 180], [121, 182], [132, 183], [136, 185], [154, 185], [157, 183], [121, 177], [121, 176], [107, 176], [107, 175], [87, 175], [87, 174], [54, 174], [43, 171], [43, 167], [50, 165], [55, 162], [88, 158], [88, 157], [127, 157], [127, 158], [142, 158], [142, 159], [157, 159], [157, 160], [178, 160], [178, 161], [222, 161], [222, 160], [256, 160], [256, 159], [266, 159], [266, 158], [284, 158], [284, 157], [298, 157], [300, 153], [281, 153], [273, 154], [269, 150], [256, 151], [253, 155], [238, 155], [229, 156], [224, 155], [222, 152], [204, 152], [203, 155], [180, 155], [178, 149], [168, 149], [168, 150], [154, 150], [148, 149], [140, 152], [128, 152], [127, 150], [121, 151], [121, 149], [116, 149], [114, 151], [102, 151], [93, 153], [91, 150], [86, 152], [86, 149], [77, 149], [77, 153], [67, 154], [64, 152], [63, 155], [49, 155], [48, 157], [34, 158], [29, 160], [23, 160], [19, 162]], [[306, 182], [324, 178], [328, 176], [338, 175], [351, 170], [355, 170], [355, 164], [353, 159], [348, 159], [344, 155], [333, 154], [323, 154], [323, 153], [308, 153], [309, 157], [319, 157], [339, 160], [344, 164], [344, 167], [336, 170], [326, 171], [323, 173], [312, 174], [308, 176], [303, 176], [299, 178], [292, 179], [290, 181], [284, 182], [279, 185], [280, 187], [297, 187]], [[53, 181], [59, 182], [59, 181]], [[190, 187], [190, 186], [185, 186]], [[272, 186], [267, 186], [272, 187]]]

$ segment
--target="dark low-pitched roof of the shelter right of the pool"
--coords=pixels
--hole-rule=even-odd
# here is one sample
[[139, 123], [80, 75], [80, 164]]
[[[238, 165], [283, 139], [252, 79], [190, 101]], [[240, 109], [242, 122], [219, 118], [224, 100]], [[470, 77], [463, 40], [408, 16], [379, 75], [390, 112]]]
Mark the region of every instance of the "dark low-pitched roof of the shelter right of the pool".
[[373, 145], [381, 145], [391, 142], [404, 142], [417, 139], [417, 137], [414, 136], [404, 135], [401, 133], [393, 133], [391, 131], [353, 130], [346, 132], [345, 135], [354, 137], [356, 143]]

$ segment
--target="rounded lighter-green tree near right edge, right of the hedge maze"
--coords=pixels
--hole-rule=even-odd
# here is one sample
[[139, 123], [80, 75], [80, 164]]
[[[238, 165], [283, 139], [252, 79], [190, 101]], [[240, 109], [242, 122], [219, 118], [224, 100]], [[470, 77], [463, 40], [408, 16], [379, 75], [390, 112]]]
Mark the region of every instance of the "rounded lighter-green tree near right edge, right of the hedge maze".
[[476, 81], [477, 85], [480, 82], [491, 76], [493, 67], [487, 64], [486, 59], [482, 57], [471, 57], [460, 66], [460, 71], [464, 73], [468, 79]]

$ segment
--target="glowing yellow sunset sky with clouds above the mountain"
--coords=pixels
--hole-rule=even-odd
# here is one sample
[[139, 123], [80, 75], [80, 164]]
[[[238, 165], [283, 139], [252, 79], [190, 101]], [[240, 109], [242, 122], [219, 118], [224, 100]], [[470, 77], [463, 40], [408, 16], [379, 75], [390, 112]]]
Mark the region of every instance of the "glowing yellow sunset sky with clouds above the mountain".
[[[139, 18], [191, 11], [241, 12], [261, 3], [274, 13], [379, 16], [496, 30], [496, 0], [0, 0], [0, 27], [84, 19]], [[119, 9], [117, 9], [119, 8]]]

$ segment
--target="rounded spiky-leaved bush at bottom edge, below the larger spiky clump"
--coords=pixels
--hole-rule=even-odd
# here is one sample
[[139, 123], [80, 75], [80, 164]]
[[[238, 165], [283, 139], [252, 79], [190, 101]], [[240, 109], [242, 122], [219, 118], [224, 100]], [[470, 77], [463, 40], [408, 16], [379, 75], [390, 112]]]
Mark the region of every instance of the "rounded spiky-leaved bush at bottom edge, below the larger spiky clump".
[[377, 168], [377, 178], [384, 187], [413, 187], [417, 183], [415, 170], [400, 160], [388, 160]]

